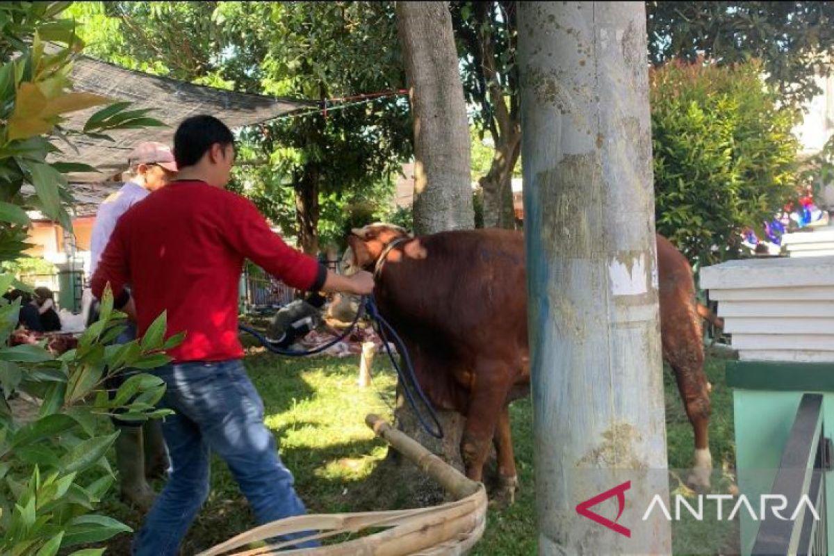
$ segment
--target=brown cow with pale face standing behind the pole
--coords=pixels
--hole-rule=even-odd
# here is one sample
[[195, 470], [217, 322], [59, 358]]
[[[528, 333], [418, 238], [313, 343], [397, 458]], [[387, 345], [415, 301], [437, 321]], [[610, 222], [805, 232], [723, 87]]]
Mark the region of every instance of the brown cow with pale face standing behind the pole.
[[[466, 475], [480, 481], [495, 443], [502, 494], [517, 487], [508, 405], [530, 391], [524, 237], [480, 229], [412, 238], [391, 224], [354, 229], [351, 266], [374, 270], [379, 312], [403, 338], [414, 372], [438, 408], [465, 415]], [[709, 385], [695, 283], [686, 258], [657, 237], [664, 358], [696, 433], [690, 483], [709, 485]]]

